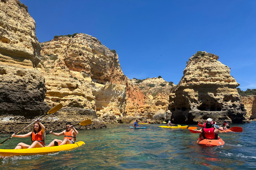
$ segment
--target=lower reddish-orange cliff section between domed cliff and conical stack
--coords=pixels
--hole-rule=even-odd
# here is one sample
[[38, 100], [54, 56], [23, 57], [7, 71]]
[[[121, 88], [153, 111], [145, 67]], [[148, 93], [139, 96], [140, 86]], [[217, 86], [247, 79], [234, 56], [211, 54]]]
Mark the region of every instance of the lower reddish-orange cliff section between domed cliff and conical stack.
[[174, 86], [162, 77], [131, 79], [130, 90], [127, 92], [126, 115], [152, 119], [159, 110], [167, 111], [169, 94]]

